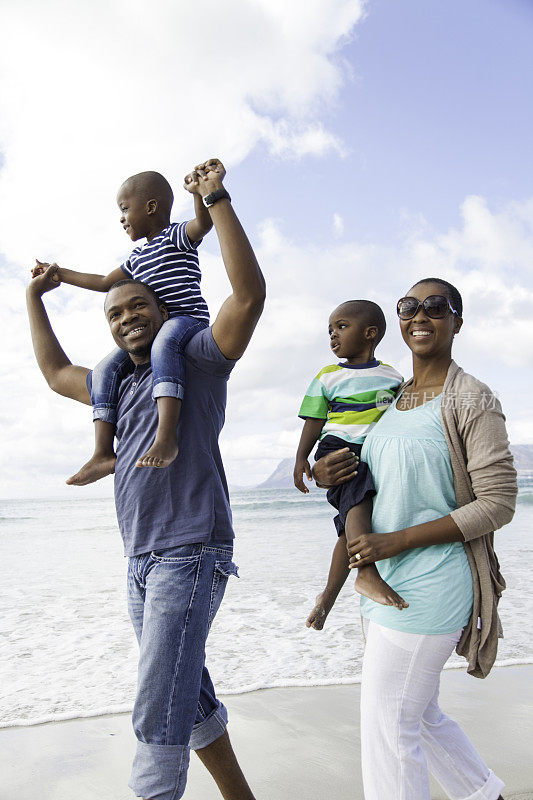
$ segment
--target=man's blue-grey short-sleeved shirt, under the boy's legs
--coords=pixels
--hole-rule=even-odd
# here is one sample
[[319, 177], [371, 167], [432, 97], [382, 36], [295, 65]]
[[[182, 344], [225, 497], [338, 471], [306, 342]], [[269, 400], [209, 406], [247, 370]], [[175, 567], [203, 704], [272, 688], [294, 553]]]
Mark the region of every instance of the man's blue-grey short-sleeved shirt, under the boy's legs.
[[[236, 362], [222, 355], [211, 328], [193, 336], [185, 360], [179, 453], [165, 469], [135, 466], [152, 444], [158, 422], [150, 364], [136, 367], [120, 384], [115, 505], [126, 556], [234, 536], [218, 436]], [[91, 373], [87, 386], [90, 391]]]

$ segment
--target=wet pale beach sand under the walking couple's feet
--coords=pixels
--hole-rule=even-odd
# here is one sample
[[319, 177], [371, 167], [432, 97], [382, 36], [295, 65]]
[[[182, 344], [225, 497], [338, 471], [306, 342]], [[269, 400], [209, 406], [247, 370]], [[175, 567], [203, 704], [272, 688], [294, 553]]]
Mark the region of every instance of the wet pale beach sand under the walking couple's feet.
[[[533, 666], [442, 678], [441, 705], [506, 782], [505, 800], [533, 800]], [[224, 698], [229, 732], [257, 800], [363, 800], [360, 687], [265, 689]], [[0, 800], [132, 800], [128, 715], [0, 730]], [[191, 756], [186, 800], [220, 800]], [[444, 800], [435, 784], [432, 798]], [[391, 800], [393, 800], [391, 798]]]

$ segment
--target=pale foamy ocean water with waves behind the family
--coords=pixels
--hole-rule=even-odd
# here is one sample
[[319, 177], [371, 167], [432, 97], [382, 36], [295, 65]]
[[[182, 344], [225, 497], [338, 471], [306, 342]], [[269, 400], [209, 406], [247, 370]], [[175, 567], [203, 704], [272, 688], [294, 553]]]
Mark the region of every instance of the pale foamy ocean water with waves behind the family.
[[[208, 640], [221, 694], [357, 683], [363, 641], [348, 581], [323, 631], [305, 620], [335, 542], [320, 491], [232, 492], [232, 578]], [[533, 663], [533, 491], [497, 534], [507, 580], [498, 665]], [[111, 499], [0, 501], [0, 727], [129, 711], [137, 644], [126, 610], [126, 560]], [[449, 667], [464, 666], [453, 656]]]

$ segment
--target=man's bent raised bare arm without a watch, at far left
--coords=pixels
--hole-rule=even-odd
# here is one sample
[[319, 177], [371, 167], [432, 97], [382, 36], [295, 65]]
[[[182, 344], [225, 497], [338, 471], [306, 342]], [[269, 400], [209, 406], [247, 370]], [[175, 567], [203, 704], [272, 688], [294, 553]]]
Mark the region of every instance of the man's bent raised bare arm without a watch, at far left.
[[45, 292], [59, 286], [55, 275], [54, 266], [48, 267], [42, 275], [32, 280], [26, 291], [35, 358], [54, 392], [90, 405], [91, 398], [85, 383], [89, 370], [77, 367], [69, 361], [52, 330], [42, 301]]

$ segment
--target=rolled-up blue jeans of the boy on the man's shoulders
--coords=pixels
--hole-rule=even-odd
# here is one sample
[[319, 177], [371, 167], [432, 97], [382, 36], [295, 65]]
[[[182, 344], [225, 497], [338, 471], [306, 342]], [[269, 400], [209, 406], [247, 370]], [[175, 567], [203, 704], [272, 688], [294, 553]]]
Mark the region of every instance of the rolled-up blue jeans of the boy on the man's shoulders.
[[[154, 376], [152, 397], [183, 397], [185, 386], [184, 350], [195, 333], [208, 323], [195, 317], [177, 316], [163, 323], [152, 344], [150, 360]], [[118, 389], [122, 379], [133, 371], [125, 350], [114, 350], [93, 370], [91, 403], [93, 419], [113, 424], [117, 421]]]

